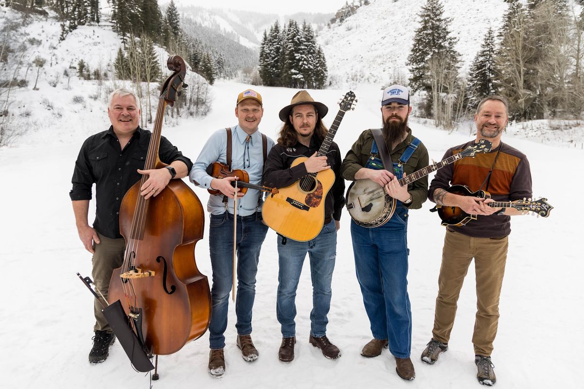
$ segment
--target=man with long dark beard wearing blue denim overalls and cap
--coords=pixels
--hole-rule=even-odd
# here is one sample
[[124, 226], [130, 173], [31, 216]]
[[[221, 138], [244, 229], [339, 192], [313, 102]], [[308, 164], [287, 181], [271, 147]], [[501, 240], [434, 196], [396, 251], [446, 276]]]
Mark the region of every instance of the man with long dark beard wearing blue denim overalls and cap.
[[[394, 214], [383, 226], [368, 228], [352, 220], [351, 237], [357, 280], [373, 333], [373, 339], [363, 347], [361, 355], [373, 358], [383, 348], [389, 348], [396, 360], [398, 376], [405, 380], [413, 380], [416, 375], [409, 358], [412, 312], [407, 280], [408, 210], [422, 208], [428, 193], [427, 177], [404, 187], [398, 182], [428, 164], [426, 147], [408, 127], [411, 111], [408, 88], [401, 85], [385, 88], [381, 98], [384, 144], [378, 144], [374, 136], [380, 130], [363, 131], [340, 167], [346, 180], [369, 178], [397, 200]], [[383, 163], [381, 153], [385, 149], [391, 161], [396, 161], [386, 161], [392, 166]]]

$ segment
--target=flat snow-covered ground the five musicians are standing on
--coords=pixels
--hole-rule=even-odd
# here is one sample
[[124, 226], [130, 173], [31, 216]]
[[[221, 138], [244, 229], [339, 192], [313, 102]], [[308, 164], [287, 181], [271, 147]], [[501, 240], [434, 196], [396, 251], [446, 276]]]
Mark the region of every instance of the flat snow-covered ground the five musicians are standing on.
[[[211, 132], [236, 123], [235, 98], [246, 87], [248, 85], [231, 82], [217, 83], [213, 87], [215, 104], [208, 117], [165, 127], [163, 134], [185, 155], [196, 158]], [[296, 91], [256, 89], [265, 101], [260, 128], [276, 138], [280, 126], [277, 113]], [[335, 102], [345, 92], [311, 92], [315, 99], [331, 108], [325, 118], [326, 124], [331, 124], [336, 112]], [[354, 92], [359, 103], [354, 112], [345, 115], [335, 139], [343, 153], [363, 129], [378, 127], [381, 120], [377, 87], [363, 86]], [[126, 354], [117, 343], [106, 362], [92, 366], [87, 360], [93, 335], [93, 297], [75, 272], [91, 274], [91, 255], [77, 237], [68, 191], [81, 143], [89, 134], [109, 125], [105, 110], [99, 116], [100, 120], [89, 122], [82, 112], [65, 111], [62, 125], [37, 132], [43, 141], [34, 141], [33, 133], [23, 139], [22, 145], [1, 150], [0, 177], [4, 190], [0, 191], [0, 259], [4, 264], [4, 277], [0, 291], [5, 298], [0, 315], [3, 350], [0, 366], [5, 372], [3, 387], [144, 388], [148, 385], [148, 376], [131, 369]], [[429, 149], [430, 157], [436, 160], [450, 146], [471, 138], [462, 133], [448, 135], [416, 121], [411, 127]], [[50, 142], [50, 136], [41, 135], [47, 132], [68, 135], [57, 136], [58, 141]], [[582, 174], [578, 172], [578, 167], [584, 164], [584, 152], [511, 135], [504, 136], [503, 141], [526, 153], [533, 173], [534, 194], [547, 197], [555, 208], [547, 219], [513, 218], [499, 334], [493, 353], [497, 386], [543, 388], [561, 384], [566, 388], [580, 387], [584, 265], [576, 242], [581, 236], [578, 225], [582, 211], [578, 205], [571, 204], [584, 189]], [[198, 188], [195, 191], [205, 203], [207, 192]], [[253, 363], [241, 359], [235, 345], [235, 316], [231, 304], [225, 376], [215, 379], [206, 371], [206, 334], [178, 353], [159, 358], [161, 380], [154, 387], [477, 387], [471, 344], [475, 313], [472, 268], [461, 293], [449, 352], [434, 366], [419, 360], [431, 336], [444, 233], [437, 216], [428, 212], [430, 207], [431, 204], [426, 203], [423, 209], [413, 211], [409, 222], [408, 281], [413, 314], [412, 360], [416, 367], [413, 382], [399, 379], [388, 351], [374, 359], [359, 355], [371, 334], [354, 275], [350, 220], [344, 212], [327, 332], [342, 349], [342, 358], [327, 360], [308, 344], [312, 299], [310, 272], [305, 267], [297, 297], [297, 357], [289, 364], [277, 359], [281, 339], [275, 318], [277, 250], [276, 234], [270, 231], [260, 257], [253, 316], [252, 336], [260, 358]], [[197, 244], [196, 258], [201, 271], [210, 276], [207, 239]]]

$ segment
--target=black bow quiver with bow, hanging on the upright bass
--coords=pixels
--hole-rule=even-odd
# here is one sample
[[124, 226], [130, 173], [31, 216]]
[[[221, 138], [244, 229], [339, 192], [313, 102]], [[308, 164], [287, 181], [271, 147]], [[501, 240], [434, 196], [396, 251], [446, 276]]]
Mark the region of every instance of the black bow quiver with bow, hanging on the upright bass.
[[[105, 316], [107, 323], [112, 326], [113, 333], [120, 341], [120, 344], [126, 352], [128, 358], [130, 358], [130, 362], [132, 363], [132, 366], [134, 366], [134, 369], [141, 373], [150, 372], [150, 370], [154, 369], [150, 358], [148, 358], [147, 353], [144, 352], [144, 341], [140, 341], [136, 333], [132, 330], [132, 327], [142, 328], [141, 311], [137, 314], [132, 314], [132, 317], [126, 316], [126, 313], [121, 306], [120, 300], [117, 300], [112, 304], [107, 304], [107, 300], [103, 297], [102, 293], [99, 292], [99, 290], [97, 290], [96, 293], [96, 290], [93, 289], [95, 288], [95, 283], [93, 283], [91, 278], [83, 278], [79, 273], [77, 273], [77, 276], [79, 276], [81, 282], [87, 286], [92, 295], [98, 299], [99, 303], [102, 304], [103, 316]], [[104, 305], [102, 300], [107, 305]], [[156, 374], [156, 376], [158, 376], [158, 374]], [[152, 377], [152, 379], [155, 378]]]

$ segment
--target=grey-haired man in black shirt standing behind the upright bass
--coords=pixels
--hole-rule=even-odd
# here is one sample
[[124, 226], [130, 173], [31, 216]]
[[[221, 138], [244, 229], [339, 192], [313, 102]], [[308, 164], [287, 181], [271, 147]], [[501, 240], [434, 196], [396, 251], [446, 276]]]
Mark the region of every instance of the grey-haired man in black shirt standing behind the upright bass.
[[[141, 129], [138, 97], [130, 90], [116, 89], [107, 104], [107, 115], [112, 126], [107, 131], [90, 136], [83, 143], [71, 182], [69, 196], [75, 213], [79, 239], [85, 249], [93, 254], [92, 276], [96, 288], [107, 299], [113, 269], [121, 266], [126, 244], [120, 235], [119, 213], [121, 200], [142, 174], [148, 180], [140, 194], [145, 199], [158, 195], [173, 178], [186, 177], [192, 167], [190, 159], [183, 156], [164, 136], [161, 136], [158, 156], [169, 164], [162, 169], [144, 169], [152, 133]], [[92, 186], [96, 187], [96, 212], [93, 227], [88, 223], [89, 201]], [[89, 363], [106, 360], [109, 346], [114, 342], [112, 328], [101, 312], [96, 300], [96, 318], [93, 347]]]

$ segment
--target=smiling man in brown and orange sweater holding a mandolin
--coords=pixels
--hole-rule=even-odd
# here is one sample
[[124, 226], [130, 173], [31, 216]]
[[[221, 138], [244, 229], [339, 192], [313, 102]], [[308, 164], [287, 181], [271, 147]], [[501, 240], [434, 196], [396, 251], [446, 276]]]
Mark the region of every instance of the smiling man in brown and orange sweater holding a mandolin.
[[[444, 159], [480, 139], [493, 143], [491, 152], [457, 160], [438, 170], [429, 190], [430, 201], [457, 206], [466, 213], [481, 216], [464, 226], [446, 227], [434, 328], [432, 339], [422, 353], [422, 361], [433, 365], [440, 353], [447, 351], [460, 289], [474, 258], [477, 316], [472, 344], [477, 379], [487, 386], [492, 386], [496, 381], [491, 352], [499, 323], [499, 296], [507, 260], [507, 238], [511, 232], [509, 216], [521, 214], [515, 208], [491, 208], [488, 204], [531, 197], [531, 172], [527, 157], [501, 142], [501, 135], [509, 121], [507, 107], [507, 100], [502, 96], [489, 96], [478, 104], [475, 114], [477, 139], [447, 150]], [[488, 191], [491, 198], [450, 193], [447, 191], [449, 185], [467, 185], [471, 191]]]

